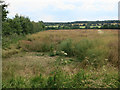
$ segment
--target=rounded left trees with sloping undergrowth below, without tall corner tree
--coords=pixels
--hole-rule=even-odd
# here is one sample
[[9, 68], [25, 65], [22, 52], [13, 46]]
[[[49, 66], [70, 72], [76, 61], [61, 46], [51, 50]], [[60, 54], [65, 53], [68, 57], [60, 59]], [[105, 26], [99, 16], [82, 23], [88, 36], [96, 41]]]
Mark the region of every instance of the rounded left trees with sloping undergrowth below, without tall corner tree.
[[[44, 30], [42, 22], [31, 22], [29, 18], [16, 15], [13, 19], [3, 22], [3, 49], [8, 48], [11, 43], [25, 38], [25, 35]], [[22, 38], [23, 37], [23, 38]]]

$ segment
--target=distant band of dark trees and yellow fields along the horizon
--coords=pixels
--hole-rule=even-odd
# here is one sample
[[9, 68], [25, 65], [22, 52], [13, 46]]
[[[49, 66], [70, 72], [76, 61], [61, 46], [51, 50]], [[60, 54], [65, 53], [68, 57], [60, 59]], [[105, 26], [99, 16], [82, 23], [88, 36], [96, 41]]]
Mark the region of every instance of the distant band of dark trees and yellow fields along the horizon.
[[59, 30], [59, 29], [119, 29], [118, 20], [109, 21], [76, 21], [66, 23], [47, 23], [45, 26], [47, 30]]

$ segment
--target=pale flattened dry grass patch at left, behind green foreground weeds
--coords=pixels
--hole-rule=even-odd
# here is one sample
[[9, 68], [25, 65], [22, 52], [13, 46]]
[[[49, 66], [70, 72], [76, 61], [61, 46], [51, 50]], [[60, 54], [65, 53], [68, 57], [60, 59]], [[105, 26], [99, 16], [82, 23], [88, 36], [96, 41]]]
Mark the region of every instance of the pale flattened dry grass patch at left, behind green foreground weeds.
[[[40, 53], [39, 53], [40, 54]], [[48, 75], [54, 68], [56, 57], [47, 55], [37, 56], [37, 53], [19, 53], [3, 60], [3, 80], [9, 77], [33, 77], [35, 75]]]

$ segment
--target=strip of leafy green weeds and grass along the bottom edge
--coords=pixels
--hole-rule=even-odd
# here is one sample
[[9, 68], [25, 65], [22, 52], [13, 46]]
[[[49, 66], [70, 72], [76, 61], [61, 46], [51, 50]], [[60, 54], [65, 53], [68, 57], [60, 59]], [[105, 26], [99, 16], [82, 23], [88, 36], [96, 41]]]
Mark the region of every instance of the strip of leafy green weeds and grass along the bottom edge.
[[[95, 74], [94, 74], [95, 75]], [[41, 74], [32, 78], [12, 77], [3, 82], [3, 88], [117, 88], [119, 85], [116, 75], [104, 73], [104, 78], [95, 80], [92, 74], [80, 70], [74, 75], [68, 75], [61, 70], [55, 70], [51, 76]]]

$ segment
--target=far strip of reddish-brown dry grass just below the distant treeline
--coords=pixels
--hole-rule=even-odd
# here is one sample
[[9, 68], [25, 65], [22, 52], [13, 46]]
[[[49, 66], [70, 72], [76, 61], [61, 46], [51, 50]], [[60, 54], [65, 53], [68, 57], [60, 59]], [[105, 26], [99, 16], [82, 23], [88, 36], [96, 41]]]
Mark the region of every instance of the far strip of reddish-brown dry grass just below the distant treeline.
[[49, 30], [30, 35], [27, 38], [31, 41], [59, 43], [68, 38], [78, 42], [84, 38], [112, 41], [118, 37], [117, 30], [103, 30], [103, 32], [103, 34], [99, 34], [97, 30]]

